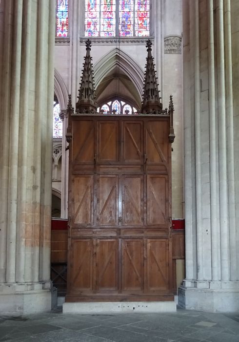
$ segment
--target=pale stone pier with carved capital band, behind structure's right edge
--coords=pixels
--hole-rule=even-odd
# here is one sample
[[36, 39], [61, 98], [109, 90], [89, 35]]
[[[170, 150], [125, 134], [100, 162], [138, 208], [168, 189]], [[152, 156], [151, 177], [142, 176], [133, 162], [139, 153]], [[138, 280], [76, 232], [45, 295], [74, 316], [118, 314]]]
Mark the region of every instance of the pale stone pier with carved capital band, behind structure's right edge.
[[[172, 216], [183, 216], [183, 111], [182, 111], [182, 1], [164, 0], [162, 6], [162, 103], [168, 107], [170, 95], [174, 102], [172, 152]], [[161, 39], [164, 37], [164, 40]]]

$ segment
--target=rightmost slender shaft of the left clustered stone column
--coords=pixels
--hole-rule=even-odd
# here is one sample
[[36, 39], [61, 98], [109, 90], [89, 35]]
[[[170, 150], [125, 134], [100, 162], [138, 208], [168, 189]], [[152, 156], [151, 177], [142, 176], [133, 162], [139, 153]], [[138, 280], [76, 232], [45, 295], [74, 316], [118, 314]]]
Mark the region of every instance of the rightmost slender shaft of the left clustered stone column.
[[[45, 25], [46, 36], [48, 37], [48, 48], [45, 49], [45, 60], [47, 61], [47, 80], [45, 120], [43, 120], [44, 148], [42, 154], [41, 168], [41, 207], [40, 207], [40, 281], [50, 279], [50, 258], [51, 258], [51, 201], [52, 194], [49, 191], [52, 187], [52, 129], [53, 129], [53, 102], [54, 97], [54, 47], [55, 47], [55, 2], [45, 1], [48, 7], [48, 25]], [[42, 172], [42, 169], [44, 172]]]

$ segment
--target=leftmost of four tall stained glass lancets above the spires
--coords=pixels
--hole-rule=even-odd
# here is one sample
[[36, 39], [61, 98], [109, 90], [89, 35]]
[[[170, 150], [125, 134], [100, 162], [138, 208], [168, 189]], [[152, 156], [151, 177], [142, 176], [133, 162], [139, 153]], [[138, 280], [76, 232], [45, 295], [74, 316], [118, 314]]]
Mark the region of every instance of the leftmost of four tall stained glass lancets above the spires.
[[97, 37], [100, 31], [100, 0], [86, 0], [85, 36]]

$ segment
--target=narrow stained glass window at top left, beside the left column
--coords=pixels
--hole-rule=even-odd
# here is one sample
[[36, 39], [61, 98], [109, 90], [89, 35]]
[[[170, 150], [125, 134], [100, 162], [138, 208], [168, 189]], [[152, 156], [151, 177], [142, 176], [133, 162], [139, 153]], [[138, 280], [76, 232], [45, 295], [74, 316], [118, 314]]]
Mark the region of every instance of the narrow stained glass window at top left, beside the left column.
[[57, 37], [68, 35], [68, 0], [57, 0]]

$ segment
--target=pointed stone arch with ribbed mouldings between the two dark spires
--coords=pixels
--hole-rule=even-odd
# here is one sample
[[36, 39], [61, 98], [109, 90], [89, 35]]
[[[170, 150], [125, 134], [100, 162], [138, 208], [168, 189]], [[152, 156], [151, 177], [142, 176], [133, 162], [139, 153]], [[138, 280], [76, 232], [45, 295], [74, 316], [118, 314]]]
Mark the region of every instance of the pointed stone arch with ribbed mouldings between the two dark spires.
[[112, 49], [105, 54], [94, 65], [94, 77], [96, 89], [100, 82], [115, 68], [118, 67], [135, 85], [140, 98], [143, 92], [144, 72], [139, 64], [128, 55], [126, 52], [119, 50], [119, 48]]

